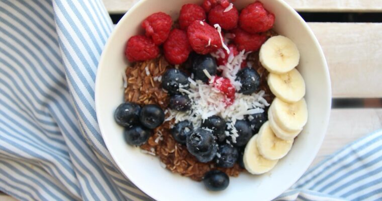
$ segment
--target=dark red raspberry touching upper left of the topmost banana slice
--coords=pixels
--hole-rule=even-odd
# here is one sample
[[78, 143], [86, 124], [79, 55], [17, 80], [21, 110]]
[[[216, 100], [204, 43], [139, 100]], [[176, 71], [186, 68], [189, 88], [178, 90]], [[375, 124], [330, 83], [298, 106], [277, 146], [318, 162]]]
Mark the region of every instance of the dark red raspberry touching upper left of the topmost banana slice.
[[257, 51], [267, 39], [265, 34], [250, 34], [240, 28], [233, 30], [233, 33], [235, 34], [233, 41], [239, 51]]

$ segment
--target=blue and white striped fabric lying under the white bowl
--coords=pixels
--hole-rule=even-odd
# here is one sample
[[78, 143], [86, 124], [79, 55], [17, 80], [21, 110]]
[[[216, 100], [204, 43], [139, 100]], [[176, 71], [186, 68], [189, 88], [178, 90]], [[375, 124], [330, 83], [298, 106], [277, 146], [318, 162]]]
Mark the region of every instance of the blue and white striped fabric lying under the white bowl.
[[[150, 200], [112, 160], [94, 110], [113, 24], [101, 0], [0, 0], [0, 190], [20, 200]], [[279, 200], [382, 198], [382, 131]]]

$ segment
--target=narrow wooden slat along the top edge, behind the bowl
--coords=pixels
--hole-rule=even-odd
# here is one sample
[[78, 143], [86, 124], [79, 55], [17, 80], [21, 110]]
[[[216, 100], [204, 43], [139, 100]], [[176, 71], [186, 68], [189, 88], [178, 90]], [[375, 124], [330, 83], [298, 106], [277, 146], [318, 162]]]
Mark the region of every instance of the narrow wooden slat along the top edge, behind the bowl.
[[[103, 0], [109, 13], [125, 13], [138, 0]], [[380, 12], [381, 0], [285, 0], [302, 12]]]

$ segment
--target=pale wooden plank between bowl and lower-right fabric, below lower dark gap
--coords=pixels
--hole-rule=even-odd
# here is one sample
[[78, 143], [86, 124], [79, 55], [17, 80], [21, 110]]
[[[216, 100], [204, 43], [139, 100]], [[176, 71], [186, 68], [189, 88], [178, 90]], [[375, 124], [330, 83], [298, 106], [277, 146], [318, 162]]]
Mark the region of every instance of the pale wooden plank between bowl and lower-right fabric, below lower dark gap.
[[324, 142], [311, 166], [377, 129], [382, 129], [382, 109], [333, 109]]

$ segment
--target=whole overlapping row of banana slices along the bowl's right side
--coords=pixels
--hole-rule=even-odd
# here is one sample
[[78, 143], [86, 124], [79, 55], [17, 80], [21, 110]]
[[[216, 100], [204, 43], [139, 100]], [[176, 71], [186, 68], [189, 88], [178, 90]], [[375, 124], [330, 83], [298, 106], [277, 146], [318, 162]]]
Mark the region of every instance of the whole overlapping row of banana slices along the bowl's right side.
[[252, 174], [271, 170], [287, 155], [308, 120], [305, 82], [295, 68], [300, 60], [296, 44], [284, 36], [271, 37], [261, 46], [259, 57], [270, 72], [267, 81], [276, 97], [269, 107], [268, 121], [244, 150], [244, 165]]

